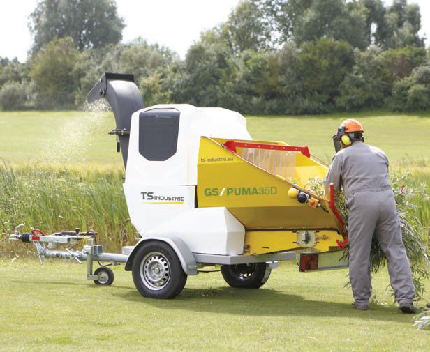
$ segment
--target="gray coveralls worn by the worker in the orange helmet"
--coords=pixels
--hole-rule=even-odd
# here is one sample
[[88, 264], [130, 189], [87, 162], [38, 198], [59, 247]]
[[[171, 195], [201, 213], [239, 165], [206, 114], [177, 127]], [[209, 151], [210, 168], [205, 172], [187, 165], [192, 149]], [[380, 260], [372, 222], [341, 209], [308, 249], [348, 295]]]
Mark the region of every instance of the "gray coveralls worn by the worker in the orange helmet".
[[345, 192], [350, 243], [349, 271], [355, 304], [368, 305], [371, 296], [369, 255], [373, 234], [388, 259], [390, 284], [399, 304], [412, 303], [414, 287], [410, 263], [401, 238], [399, 215], [388, 179], [383, 151], [361, 141], [334, 155], [325, 177], [325, 190], [333, 183]]

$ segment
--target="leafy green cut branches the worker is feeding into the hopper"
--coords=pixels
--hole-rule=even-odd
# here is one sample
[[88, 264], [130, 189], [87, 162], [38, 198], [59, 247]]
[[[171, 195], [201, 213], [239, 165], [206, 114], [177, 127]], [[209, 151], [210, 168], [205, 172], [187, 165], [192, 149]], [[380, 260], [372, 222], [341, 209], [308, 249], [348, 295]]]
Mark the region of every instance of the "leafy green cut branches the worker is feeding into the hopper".
[[[425, 185], [417, 184], [409, 173], [391, 174], [390, 182], [394, 190], [397, 210], [399, 211], [403, 243], [406, 247], [410, 268], [413, 273], [415, 298], [420, 300], [424, 294], [424, 281], [430, 277], [428, 227], [430, 219], [423, 217], [420, 204], [430, 201], [430, 197], [426, 193]], [[306, 184], [306, 189], [323, 196], [323, 181], [312, 179]], [[337, 194], [336, 208], [343, 221], [348, 224], [348, 209], [345, 206], [343, 194]], [[348, 255], [348, 246], [346, 247], [346, 255]], [[380, 248], [378, 239], [373, 236], [370, 259], [371, 273], [378, 272], [386, 263], [387, 258]]]

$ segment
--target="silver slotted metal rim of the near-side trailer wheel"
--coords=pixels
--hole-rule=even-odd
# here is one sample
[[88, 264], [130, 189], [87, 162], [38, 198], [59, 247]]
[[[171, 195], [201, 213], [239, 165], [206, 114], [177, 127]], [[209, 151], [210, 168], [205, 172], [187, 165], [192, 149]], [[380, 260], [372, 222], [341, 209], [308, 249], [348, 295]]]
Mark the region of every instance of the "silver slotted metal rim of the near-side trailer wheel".
[[140, 262], [140, 277], [148, 289], [158, 291], [170, 281], [170, 263], [164, 254], [150, 252]]

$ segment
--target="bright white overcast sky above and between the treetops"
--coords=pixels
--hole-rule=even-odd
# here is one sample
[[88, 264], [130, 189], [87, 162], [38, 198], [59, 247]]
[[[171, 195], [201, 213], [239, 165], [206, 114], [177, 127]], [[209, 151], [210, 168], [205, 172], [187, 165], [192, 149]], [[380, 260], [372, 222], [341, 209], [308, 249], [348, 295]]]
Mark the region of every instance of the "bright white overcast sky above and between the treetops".
[[[28, 17], [37, 0], [7, 1], [0, 12], [0, 56], [27, 59], [31, 47]], [[385, 0], [391, 3], [392, 0]], [[410, 0], [421, 8], [421, 34], [430, 45], [430, 1]], [[126, 28], [123, 41], [141, 36], [149, 43], [170, 47], [184, 57], [200, 32], [225, 21], [239, 0], [117, 0]]]

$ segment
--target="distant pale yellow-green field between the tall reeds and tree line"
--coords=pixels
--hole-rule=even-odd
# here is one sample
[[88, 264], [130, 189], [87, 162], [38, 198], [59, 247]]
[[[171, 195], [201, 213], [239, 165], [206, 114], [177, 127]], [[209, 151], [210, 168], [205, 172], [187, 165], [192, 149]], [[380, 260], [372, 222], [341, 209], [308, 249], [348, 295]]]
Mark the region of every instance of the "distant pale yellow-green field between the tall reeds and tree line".
[[[366, 142], [383, 148], [393, 165], [425, 166], [430, 158], [430, 113], [366, 112], [320, 116], [249, 116], [253, 139], [307, 145], [328, 162], [332, 135], [344, 118], [359, 118]], [[11, 164], [43, 162], [97, 168], [121, 167], [115, 153], [112, 113], [0, 112], [0, 158]]]

